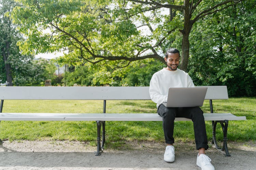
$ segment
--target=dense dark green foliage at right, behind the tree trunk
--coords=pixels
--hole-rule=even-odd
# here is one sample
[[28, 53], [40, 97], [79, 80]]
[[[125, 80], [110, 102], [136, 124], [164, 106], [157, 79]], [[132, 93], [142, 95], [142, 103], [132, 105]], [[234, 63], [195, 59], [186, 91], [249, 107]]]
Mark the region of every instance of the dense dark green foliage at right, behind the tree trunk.
[[255, 0], [196, 24], [189, 74], [197, 85], [227, 85], [230, 96], [256, 96]]

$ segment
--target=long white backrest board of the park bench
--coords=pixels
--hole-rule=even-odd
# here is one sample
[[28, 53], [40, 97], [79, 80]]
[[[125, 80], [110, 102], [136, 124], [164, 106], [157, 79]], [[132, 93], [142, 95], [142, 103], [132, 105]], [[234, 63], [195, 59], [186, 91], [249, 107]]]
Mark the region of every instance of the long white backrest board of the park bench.
[[[207, 86], [205, 99], [228, 99], [227, 86]], [[151, 100], [149, 87], [0, 87], [1, 100]]]

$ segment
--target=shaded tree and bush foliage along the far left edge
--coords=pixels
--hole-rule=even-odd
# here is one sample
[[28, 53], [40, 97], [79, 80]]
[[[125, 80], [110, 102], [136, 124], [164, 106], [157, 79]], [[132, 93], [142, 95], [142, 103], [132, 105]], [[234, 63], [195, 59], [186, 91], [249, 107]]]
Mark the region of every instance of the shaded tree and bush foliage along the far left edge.
[[23, 40], [23, 37], [16, 30], [18, 26], [8, 17], [17, 4], [12, 0], [1, 0], [0, 4], [0, 80], [8, 81], [8, 85], [12, 86], [13, 83], [39, 85], [45, 79], [54, 78], [56, 67], [52, 63], [33, 60], [32, 55], [20, 53], [17, 41]]

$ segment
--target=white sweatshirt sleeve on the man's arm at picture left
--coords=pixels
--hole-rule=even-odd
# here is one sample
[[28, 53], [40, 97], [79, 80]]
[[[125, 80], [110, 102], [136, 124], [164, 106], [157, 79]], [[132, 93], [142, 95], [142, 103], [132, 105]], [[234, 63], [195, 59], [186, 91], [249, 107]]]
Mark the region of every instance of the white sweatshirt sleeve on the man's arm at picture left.
[[159, 83], [158, 83], [157, 77], [154, 74], [150, 81], [149, 93], [150, 93], [151, 100], [159, 105], [162, 102], [167, 102], [167, 96], [160, 94], [160, 90], [159, 90], [160, 87], [158, 85]]

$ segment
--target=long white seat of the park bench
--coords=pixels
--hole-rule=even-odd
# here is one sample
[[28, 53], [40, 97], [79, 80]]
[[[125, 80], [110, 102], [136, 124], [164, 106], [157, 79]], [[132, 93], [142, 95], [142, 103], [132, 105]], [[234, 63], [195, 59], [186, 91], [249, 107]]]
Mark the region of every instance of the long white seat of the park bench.
[[[205, 113], [205, 120], [246, 120], [245, 116], [231, 113]], [[31, 121], [162, 121], [156, 113], [1, 113], [0, 120]], [[176, 121], [191, 121], [187, 118], [175, 118]]]

